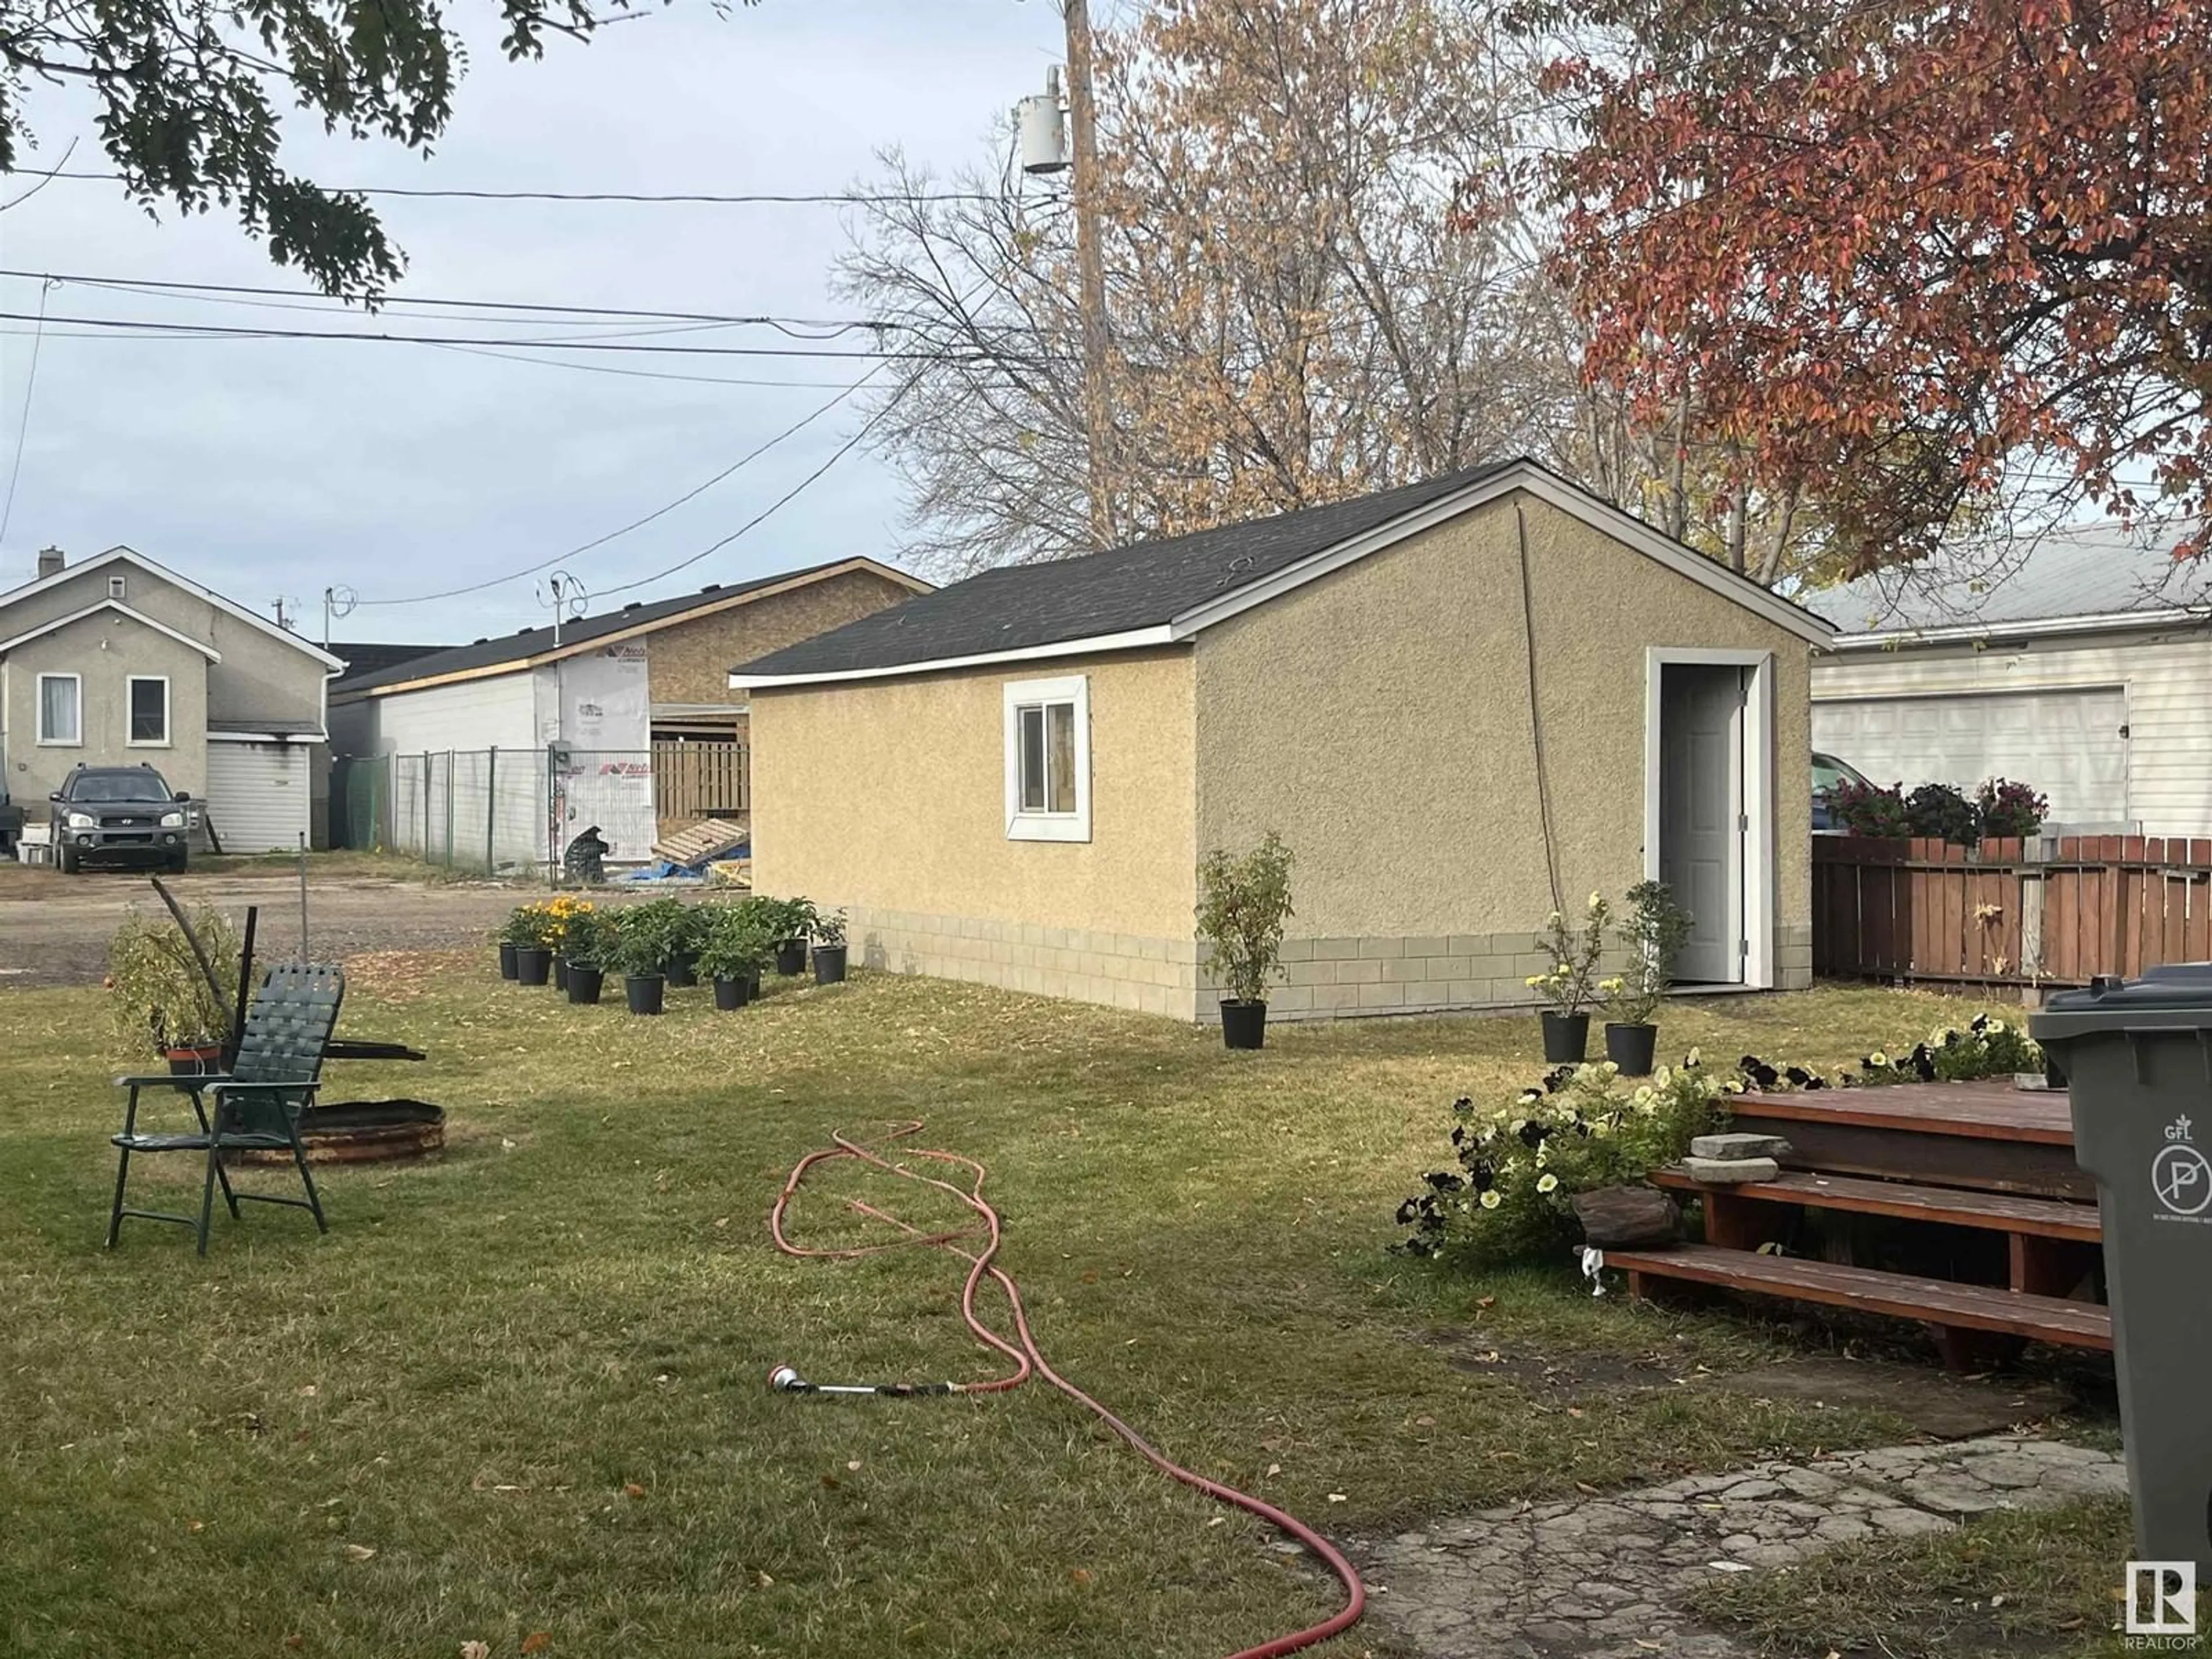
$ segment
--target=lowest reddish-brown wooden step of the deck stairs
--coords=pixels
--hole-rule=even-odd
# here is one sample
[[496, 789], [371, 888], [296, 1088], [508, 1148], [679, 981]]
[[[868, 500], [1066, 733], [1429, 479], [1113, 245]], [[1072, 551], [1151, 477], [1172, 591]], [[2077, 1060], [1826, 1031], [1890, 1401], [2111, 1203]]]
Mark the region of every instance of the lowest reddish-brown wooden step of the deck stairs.
[[1944, 1329], [2026, 1336], [2064, 1347], [2110, 1352], [2112, 1314], [2097, 1303], [2062, 1296], [2031, 1296], [1989, 1285], [1955, 1285], [1944, 1279], [1913, 1279], [1869, 1267], [1840, 1267], [1829, 1261], [1794, 1256], [1761, 1256], [1750, 1250], [1714, 1245], [1672, 1245], [1668, 1250], [1608, 1250], [1606, 1265], [1628, 1274], [1628, 1294], [1641, 1296], [1650, 1279], [1681, 1279], [1699, 1285], [1721, 1285], [1752, 1296], [1851, 1307], [1863, 1314], [1916, 1318]]

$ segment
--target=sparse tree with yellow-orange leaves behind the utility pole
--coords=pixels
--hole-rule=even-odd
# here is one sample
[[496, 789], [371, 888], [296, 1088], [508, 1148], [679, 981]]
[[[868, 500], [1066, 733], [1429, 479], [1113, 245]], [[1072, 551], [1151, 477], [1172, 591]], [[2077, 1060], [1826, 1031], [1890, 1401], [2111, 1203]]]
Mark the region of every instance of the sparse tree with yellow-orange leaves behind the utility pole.
[[[1533, 80], [1460, 0], [1179, 0], [1106, 31], [1113, 522], [1203, 529], [1535, 451], [1590, 420], [1517, 208]], [[1086, 551], [1064, 195], [920, 201], [885, 157], [845, 292], [920, 352], [876, 442], [945, 573]]]

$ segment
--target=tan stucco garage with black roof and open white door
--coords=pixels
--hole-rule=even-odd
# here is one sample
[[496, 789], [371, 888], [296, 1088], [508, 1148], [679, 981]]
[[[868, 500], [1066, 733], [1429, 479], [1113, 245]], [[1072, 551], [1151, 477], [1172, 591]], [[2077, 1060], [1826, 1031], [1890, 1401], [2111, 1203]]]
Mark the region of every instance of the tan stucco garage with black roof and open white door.
[[754, 885], [858, 960], [1192, 1018], [1197, 860], [1296, 856], [1274, 1015], [1531, 1000], [1646, 876], [1812, 978], [1798, 606], [1528, 460], [989, 571], [734, 668]]

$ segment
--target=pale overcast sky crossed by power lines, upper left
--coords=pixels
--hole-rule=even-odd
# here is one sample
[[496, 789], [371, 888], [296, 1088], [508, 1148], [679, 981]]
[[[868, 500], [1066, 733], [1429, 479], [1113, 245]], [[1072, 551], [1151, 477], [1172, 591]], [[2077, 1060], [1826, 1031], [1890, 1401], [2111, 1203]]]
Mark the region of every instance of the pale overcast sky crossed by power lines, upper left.
[[[874, 153], [898, 144], [951, 170], [989, 159], [998, 115], [1042, 86], [1060, 58], [1060, 13], [1042, 0], [765, 0], [717, 18], [701, 0], [677, 0], [588, 46], [555, 40], [538, 64], [504, 62], [482, 29], [471, 46], [453, 124], [429, 161], [310, 133], [294, 146], [301, 166], [325, 184], [363, 186], [810, 192], [872, 177]], [[73, 135], [71, 170], [108, 170], [88, 106], [46, 97], [33, 124], [40, 148], [24, 157], [27, 173], [55, 166]], [[11, 179], [0, 197], [20, 186]], [[830, 296], [843, 208], [387, 197], [378, 210], [409, 259], [394, 294], [854, 314]], [[69, 179], [0, 215], [0, 265], [305, 288], [226, 217], [155, 223], [115, 186]], [[35, 312], [38, 281], [0, 279], [0, 310]], [[405, 307], [363, 323], [84, 285], [49, 290], [46, 312], [427, 332]], [[670, 338], [792, 343], [768, 330]], [[624, 378], [385, 343], [88, 338], [49, 323], [0, 588], [29, 580], [42, 546], [82, 557], [126, 542], [263, 613], [276, 595], [299, 602], [312, 635], [327, 584], [363, 599], [407, 597], [533, 564], [681, 495], [865, 369], [807, 358], [582, 361], [805, 385]], [[0, 489], [29, 378], [31, 325], [0, 321]], [[606, 591], [706, 549], [845, 442], [860, 403], [568, 568]], [[896, 557], [898, 540], [896, 478], [863, 449], [743, 540], [624, 597], [847, 553]], [[522, 580], [438, 604], [363, 606], [334, 633], [465, 641], [544, 617]]]

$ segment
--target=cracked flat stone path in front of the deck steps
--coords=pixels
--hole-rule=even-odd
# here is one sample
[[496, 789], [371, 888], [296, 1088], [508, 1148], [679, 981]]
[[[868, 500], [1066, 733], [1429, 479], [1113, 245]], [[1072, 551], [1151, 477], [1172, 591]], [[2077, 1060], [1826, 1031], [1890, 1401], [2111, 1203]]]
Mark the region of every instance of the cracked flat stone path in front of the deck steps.
[[1719, 1573], [1865, 1537], [1940, 1533], [1993, 1509], [2126, 1495], [2126, 1464], [1989, 1436], [1688, 1475], [1571, 1504], [1515, 1504], [1354, 1551], [1367, 1617], [1425, 1659], [1745, 1659], [1681, 1601]]

